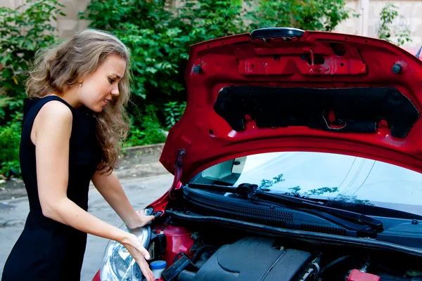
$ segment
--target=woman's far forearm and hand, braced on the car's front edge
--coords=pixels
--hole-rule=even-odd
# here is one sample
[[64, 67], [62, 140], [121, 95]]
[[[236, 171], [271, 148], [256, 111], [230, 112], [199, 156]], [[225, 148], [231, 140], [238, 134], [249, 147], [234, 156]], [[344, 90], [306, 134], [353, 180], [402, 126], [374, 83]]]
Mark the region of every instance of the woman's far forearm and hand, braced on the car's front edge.
[[101, 174], [97, 171], [92, 178], [92, 183], [128, 228], [139, 228], [153, 221], [154, 216], [145, 216], [143, 212], [136, 213], [114, 172]]

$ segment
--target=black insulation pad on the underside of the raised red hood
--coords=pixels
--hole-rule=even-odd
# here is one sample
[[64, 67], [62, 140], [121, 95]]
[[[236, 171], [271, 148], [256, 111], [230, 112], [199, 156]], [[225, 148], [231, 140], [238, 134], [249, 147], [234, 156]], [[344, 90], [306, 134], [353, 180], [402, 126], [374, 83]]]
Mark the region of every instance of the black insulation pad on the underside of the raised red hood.
[[338, 133], [375, 133], [377, 123], [385, 120], [398, 138], [407, 136], [420, 115], [409, 98], [386, 87], [227, 86], [219, 91], [214, 110], [235, 131], [245, 129], [245, 115], [259, 128], [308, 126]]

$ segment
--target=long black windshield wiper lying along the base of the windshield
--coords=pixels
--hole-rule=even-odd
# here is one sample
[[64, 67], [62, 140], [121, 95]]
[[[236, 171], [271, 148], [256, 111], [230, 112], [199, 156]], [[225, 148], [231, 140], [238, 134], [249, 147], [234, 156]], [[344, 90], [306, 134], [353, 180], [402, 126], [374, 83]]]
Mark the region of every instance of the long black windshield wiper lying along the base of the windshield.
[[376, 233], [381, 233], [383, 229], [383, 222], [366, 216], [364, 214], [359, 214], [354, 211], [346, 211], [343, 209], [335, 209], [332, 207], [326, 207], [314, 202], [312, 200], [306, 200], [300, 197], [291, 197], [288, 195], [282, 195], [277, 193], [269, 193], [258, 189], [258, 185], [250, 183], [242, 183], [237, 187], [229, 187], [225, 185], [207, 185], [203, 183], [190, 183], [189, 186], [195, 188], [207, 188], [224, 192], [231, 192], [239, 195], [240, 197], [248, 200], [254, 200], [255, 198], [260, 198], [262, 200], [268, 200], [270, 202], [282, 203], [286, 205], [294, 205], [295, 207], [302, 209], [311, 209], [322, 211], [326, 214], [331, 214], [332, 216], [343, 218], [346, 221], [356, 223], [359, 225], [369, 226]]

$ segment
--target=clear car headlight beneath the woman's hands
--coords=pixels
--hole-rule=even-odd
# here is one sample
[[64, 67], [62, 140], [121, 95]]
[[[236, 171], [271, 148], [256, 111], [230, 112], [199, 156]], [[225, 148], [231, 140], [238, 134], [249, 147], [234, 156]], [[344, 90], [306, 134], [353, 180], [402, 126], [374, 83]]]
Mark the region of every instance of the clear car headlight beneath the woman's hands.
[[[129, 230], [123, 224], [120, 229], [136, 235], [143, 247], [148, 249], [151, 240], [150, 226]], [[110, 240], [101, 263], [100, 279], [101, 281], [138, 281], [142, 280], [142, 273], [129, 251], [119, 242]]]

